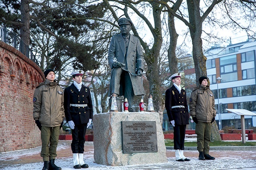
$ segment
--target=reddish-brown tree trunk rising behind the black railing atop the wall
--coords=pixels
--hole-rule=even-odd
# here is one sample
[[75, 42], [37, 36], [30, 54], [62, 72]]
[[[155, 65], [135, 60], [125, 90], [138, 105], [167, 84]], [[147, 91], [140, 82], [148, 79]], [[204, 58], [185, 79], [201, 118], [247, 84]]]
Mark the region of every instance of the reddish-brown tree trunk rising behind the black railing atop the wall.
[[[28, 0], [21, 0], [20, 2], [20, 16], [22, 26], [20, 28], [20, 39], [24, 44], [20, 43], [20, 51], [29, 57], [28, 46], [30, 45], [30, 14], [29, 14]], [[26, 47], [27, 46], [27, 47]]]

